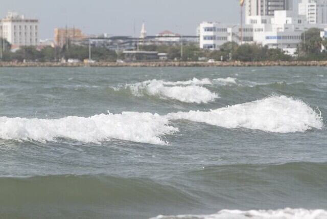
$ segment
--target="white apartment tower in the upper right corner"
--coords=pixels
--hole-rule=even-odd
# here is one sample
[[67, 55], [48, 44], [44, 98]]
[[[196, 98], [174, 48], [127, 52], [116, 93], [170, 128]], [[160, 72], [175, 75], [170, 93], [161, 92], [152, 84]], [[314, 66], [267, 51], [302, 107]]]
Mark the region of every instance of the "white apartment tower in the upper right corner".
[[327, 24], [327, 0], [302, 0], [298, 13], [305, 15], [309, 24]]

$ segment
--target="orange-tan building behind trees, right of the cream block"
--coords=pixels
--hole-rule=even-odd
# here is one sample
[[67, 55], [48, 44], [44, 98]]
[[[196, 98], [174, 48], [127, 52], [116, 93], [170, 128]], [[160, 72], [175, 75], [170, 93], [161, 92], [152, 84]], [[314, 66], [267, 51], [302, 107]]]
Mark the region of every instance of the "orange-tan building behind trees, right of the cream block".
[[82, 31], [77, 28], [56, 28], [54, 41], [56, 46], [62, 47], [67, 40], [81, 40], [85, 37]]

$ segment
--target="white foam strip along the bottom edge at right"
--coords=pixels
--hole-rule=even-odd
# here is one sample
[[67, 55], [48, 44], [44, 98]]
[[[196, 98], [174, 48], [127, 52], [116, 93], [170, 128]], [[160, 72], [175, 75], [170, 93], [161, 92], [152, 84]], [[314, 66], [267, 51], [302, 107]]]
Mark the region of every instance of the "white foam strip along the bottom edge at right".
[[152, 219], [325, 219], [327, 211], [307, 210], [307, 209], [279, 209], [279, 210], [222, 210], [211, 215], [178, 215], [163, 216], [159, 215]]

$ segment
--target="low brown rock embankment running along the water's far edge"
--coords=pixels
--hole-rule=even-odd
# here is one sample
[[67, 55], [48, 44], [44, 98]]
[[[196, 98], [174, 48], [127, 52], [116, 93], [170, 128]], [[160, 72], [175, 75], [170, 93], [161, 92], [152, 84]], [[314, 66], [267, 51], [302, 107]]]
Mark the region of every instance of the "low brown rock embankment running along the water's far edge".
[[217, 61], [214, 63], [208, 62], [177, 62], [177, 61], [162, 61], [162, 62], [96, 62], [96, 63], [61, 63], [61, 62], [0, 62], [1, 67], [327, 67], [326, 61]]

